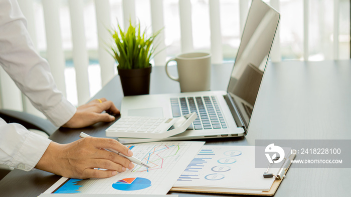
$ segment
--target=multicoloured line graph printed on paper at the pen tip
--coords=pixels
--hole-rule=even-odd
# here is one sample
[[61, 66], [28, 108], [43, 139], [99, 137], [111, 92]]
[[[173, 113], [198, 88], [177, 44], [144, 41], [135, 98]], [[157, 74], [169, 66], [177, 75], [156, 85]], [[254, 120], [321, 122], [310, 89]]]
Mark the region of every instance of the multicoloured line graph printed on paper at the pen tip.
[[179, 145], [155, 145], [150, 151], [145, 153], [141, 159], [151, 167], [148, 168], [141, 165], [136, 165], [132, 169], [132, 172], [149, 172], [163, 168], [168, 158], [172, 158], [173, 160], [173, 157], [177, 157], [179, 155], [180, 149], [181, 147]]

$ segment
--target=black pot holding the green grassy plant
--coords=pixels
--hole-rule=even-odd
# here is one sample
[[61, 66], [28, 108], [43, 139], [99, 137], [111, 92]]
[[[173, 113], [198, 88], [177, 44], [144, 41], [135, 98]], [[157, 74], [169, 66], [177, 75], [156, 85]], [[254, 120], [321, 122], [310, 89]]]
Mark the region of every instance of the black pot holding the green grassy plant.
[[124, 96], [148, 94], [150, 91], [151, 64], [146, 68], [119, 69]]

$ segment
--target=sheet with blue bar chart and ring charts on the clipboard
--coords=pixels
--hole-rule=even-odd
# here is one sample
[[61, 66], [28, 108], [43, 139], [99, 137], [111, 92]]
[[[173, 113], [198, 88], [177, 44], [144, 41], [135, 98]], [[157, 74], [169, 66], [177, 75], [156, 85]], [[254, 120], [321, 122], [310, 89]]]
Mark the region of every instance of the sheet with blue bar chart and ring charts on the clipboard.
[[[263, 177], [266, 170], [255, 168], [255, 146], [204, 145], [173, 187], [261, 193], [275, 180]], [[269, 172], [279, 170], [270, 168]]]

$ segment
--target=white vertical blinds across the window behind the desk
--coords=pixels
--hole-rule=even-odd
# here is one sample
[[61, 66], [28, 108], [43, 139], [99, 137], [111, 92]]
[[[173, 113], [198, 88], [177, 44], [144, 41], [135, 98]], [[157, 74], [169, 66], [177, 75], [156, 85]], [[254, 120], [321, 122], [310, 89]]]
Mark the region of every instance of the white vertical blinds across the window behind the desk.
[[[18, 0], [21, 9], [27, 18], [28, 31], [34, 42], [34, 46], [37, 47], [37, 36], [36, 36], [36, 18], [34, 15], [33, 3], [34, 0]], [[59, 9], [61, 7], [62, 0], [42, 0], [44, 9], [44, 22], [47, 40], [47, 51], [46, 58], [48, 59], [51, 71], [54, 79], [57, 83], [58, 88], [66, 94], [65, 84], [65, 58], [62, 46], [62, 35], [60, 27], [60, 15]], [[37, 2], [37, 1], [35, 1]], [[38, 1], [40, 2], [40, 1]], [[38, 3], [37, 2], [37, 3]], [[89, 82], [88, 82], [88, 52], [86, 46], [86, 38], [84, 31], [84, 18], [83, 18], [83, 0], [68, 0], [70, 13], [71, 13], [71, 29], [72, 29], [72, 42], [73, 42], [73, 61], [76, 69], [76, 80], [77, 80], [77, 92], [78, 92], [78, 103], [82, 104], [89, 98]], [[121, 0], [123, 18], [118, 18], [119, 22], [123, 21], [124, 28], [129, 25], [129, 21], [135, 24], [135, 3], [136, 0]], [[164, 24], [164, 7], [163, 3], [165, 0], [150, 0], [151, 9], [151, 22], [152, 24], [146, 24], [152, 26], [152, 32], [156, 32], [161, 28], [167, 28]], [[193, 41], [193, 21], [192, 21], [192, 0], [178, 0], [175, 1], [176, 6], [179, 7], [180, 14], [180, 32], [181, 32], [181, 51], [179, 52], [190, 52], [194, 50]], [[210, 13], [210, 31], [211, 31], [211, 52], [212, 62], [221, 63], [223, 61], [223, 43], [222, 43], [222, 32], [221, 32], [221, 18], [220, 18], [220, 3], [221, 0], [208, 0], [209, 13]], [[249, 5], [251, 0], [240, 0], [239, 4], [239, 23], [240, 33], [242, 33], [244, 24], [246, 21]], [[270, 4], [277, 10], [280, 9], [280, 0], [270, 0]], [[309, 9], [310, 0], [303, 0], [303, 58], [308, 60], [309, 56]], [[111, 25], [111, 8], [110, 0], [94, 0], [94, 6], [96, 11], [96, 22], [97, 22], [97, 40], [98, 40], [98, 56], [99, 64], [101, 69], [101, 81], [102, 85], [105, 85], [114, 75], [115, 61], [113, 57], [108, 53], [107, 48], [111, 41], [110, 33], [108, 28]], [[333, 57], [338, 59], [339, 55], [339, 0], [333, 1]], [[234, 11], [234, 10], [233, 10]], [[222, 18], [223, 20], [223, 18]], [[155, 65], [164, 65], [166, 60], [165, 50], [165, 35], [164, 30], [161, 31], [157, 37], [156, 42], [158, 44], [157, 51], [160, 52], [154, 57]], [[278, 30], [275, 38], [275, 43], [271, 51], [272, 61], [280, 61], [280, 31]], [[16, 110], [23, 110], [35, 113], [36, 110], [30, 104], [29, 100], [22, 99], [19, 89], [12, 82], [11, 78], [5, 73], [3, 69], [0, 69], [0, 91], [1, 99], [0, 104], [3, 108], [10, 108]], [[31, 108], [32, 107], [32, 108]]]

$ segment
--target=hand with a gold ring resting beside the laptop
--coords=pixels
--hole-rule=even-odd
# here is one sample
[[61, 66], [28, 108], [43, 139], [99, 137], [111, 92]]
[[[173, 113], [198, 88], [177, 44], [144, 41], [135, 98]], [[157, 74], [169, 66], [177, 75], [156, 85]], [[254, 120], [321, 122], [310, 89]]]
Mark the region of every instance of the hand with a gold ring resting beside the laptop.
[[113, 121], [115, 117], [103, 111], [119, 114], [119, 110], [111, 100], [106, 98], [94, 99], [87, 104], [77, 107], [76, 113], [68, 120], [63, 127], [81, 128], [95, 124], [99, 121]]

